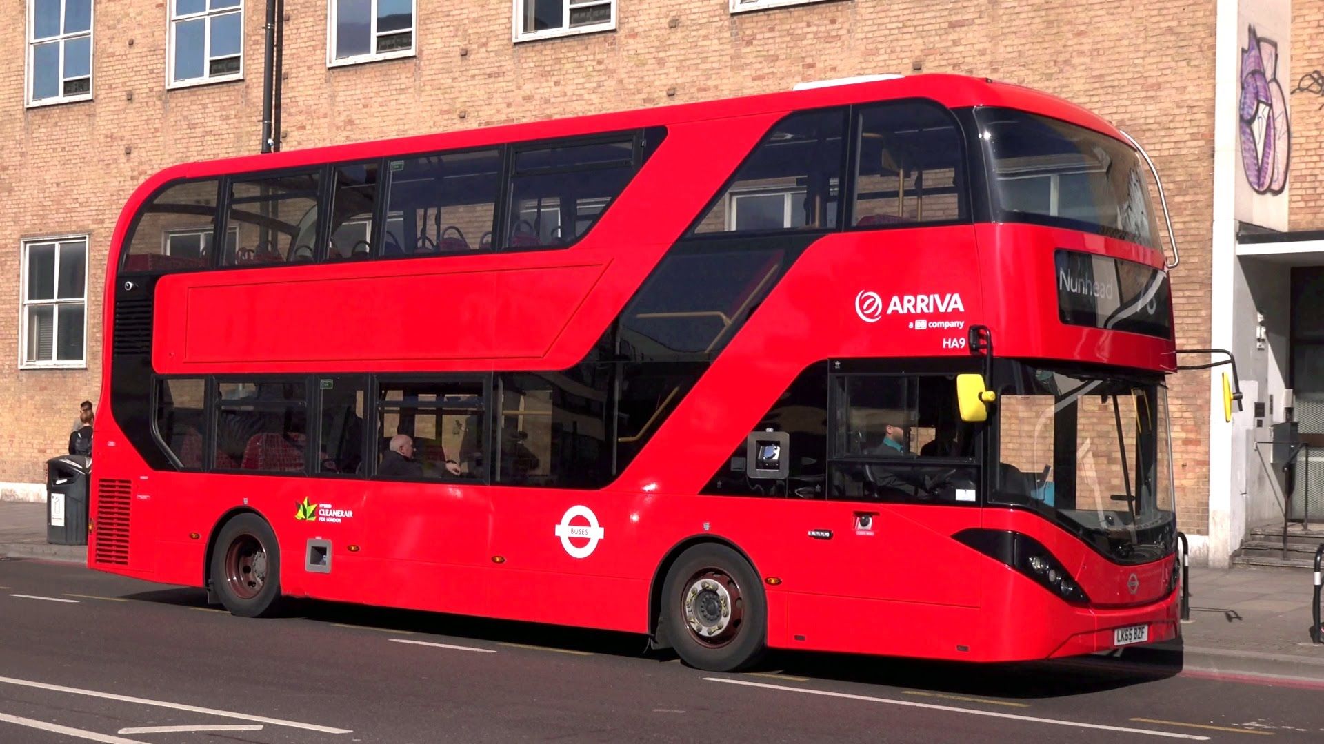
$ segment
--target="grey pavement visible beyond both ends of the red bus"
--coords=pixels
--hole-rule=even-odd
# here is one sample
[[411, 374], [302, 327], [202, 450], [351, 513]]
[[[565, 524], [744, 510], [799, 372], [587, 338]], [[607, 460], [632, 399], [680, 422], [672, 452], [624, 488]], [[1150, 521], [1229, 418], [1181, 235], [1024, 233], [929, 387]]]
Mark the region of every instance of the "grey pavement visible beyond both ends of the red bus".
[[[46, 543], [46, 504], [0, 502], [0, 559], [86, 565], [86, 545]], [[1324, 680], [1324, 645], [1309, 638], [1313, 573], [1299, 568], [1190, 568], [1190, 620], [1182, 624], [1192, 674]], [[1161, 646], [1160, 646], [1161, 647]]]

